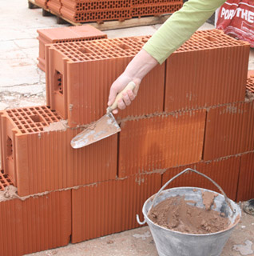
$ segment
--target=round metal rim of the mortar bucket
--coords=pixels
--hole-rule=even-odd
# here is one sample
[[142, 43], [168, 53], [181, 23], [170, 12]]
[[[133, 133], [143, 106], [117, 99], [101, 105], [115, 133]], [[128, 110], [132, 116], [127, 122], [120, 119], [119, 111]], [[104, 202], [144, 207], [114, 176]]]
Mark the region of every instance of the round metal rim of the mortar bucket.
[[[199, 190], [205, 190], [205, 191], [208, 191], [208, 192], [212, 192], [212, 193], [216, 193], [216, 194], [220, 194], [219, 192], [216, 192], [216, 191], [213, 191], [213, 190], [207, 190], [207, 189], [204, 189], [204, 188], [200, 188], [200, 187], [197, 187], [197, 186], [175, 186], [173, 188], [170, 188], [168, 190], [163, 190], [163, 192], [165, 191], [169, 191], [169, 190], [175, 190], [175, 189], [199, 189]], [[220, 194], [222, 197], [224, 197], [223, 194]], [[166, 230], [166, 231], [169, 231], [169, 232], [173, 232], [173, 233], [177, 233], [177, 234], [181, 234], [181, 235], [188, 235], [188, 236], [194, 236], [194, 237], [204, 237], [204, 236], [210, 236], [210, 235], [216, 235], [216, 234], [222, 234], [224, 232], [227, 232], [229, 230], [232, 230], [239, 222], [240, 222], [240, 218], [241, 218], [241, 210], [240, 210], [240, 206], [237, 205], [236, 202], [232, 201], [232, 199], [228, 198], [228, 200], [230, 201], [230, 203], [234, 203], [236, 205], [236, 207], [239, 209], [239, 217], [237, 221], [235, 221], [233, 224], [230, 224], [229, 228], [226, 229], [226, 230], [220, 230], [220, 231], [217, 231], [217, 232], [213, 232], [213, 233], [208, 233], [208, 234], [190, 234], [190, 233], [183, 233], [183, 232], [180, 232], [180, 231], [177, 231], [177, 230], [169, 230], [168, 228], [165, 228], [164, 226], [160, 226], [158, 225], [157, 223], [154, 223], [152, 220], [149, 219], [148, 215], [145, 214], [145, 206], [146, 204], [149, 202], [149, 200], [151, 200], [153, 197], [155, 197], [156, 194], [153, 194], [151, 195], [144, 203], [143, 207], [142, 207], [142, 213], [144, 215], [144, 218], [145, 218], [145, 221], [149, 221], [151, 224], [157, 226], [157, 227], [160, 227], [161, 229], [163, 230]]]

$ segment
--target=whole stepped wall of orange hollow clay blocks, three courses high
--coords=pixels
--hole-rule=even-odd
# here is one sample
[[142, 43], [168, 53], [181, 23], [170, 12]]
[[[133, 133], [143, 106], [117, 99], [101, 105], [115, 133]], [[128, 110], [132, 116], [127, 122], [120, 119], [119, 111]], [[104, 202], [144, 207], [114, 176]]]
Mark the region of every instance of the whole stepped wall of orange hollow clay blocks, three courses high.
[[[147, 40], [47, 45], [47, 106], [1, 112], [4, 255], [135, 228], [145, 200], [189, 166], [232, 200], [254, 197], [249, 45], [219, 30], [196, 32], [143, 79], [137, 99], [117, 114], [119, 134], [71, 148], [82, 126], [105, 114], [112, 82]], [[172, 186], [217, 191], [196, 174]]]

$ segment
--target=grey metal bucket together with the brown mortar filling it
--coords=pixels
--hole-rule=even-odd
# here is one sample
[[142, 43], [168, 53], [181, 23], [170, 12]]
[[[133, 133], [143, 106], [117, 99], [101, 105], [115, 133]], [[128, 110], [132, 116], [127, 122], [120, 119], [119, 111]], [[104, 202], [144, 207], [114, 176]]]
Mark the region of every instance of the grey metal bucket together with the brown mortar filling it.
[[240, 221], [240, 207], [211, 178], [208, 180], [221, 194], [196, 187], [164, 190], [187, 171], [208, 178], [190, 168], [183, 170], [146, 200], [142, 209], [145, 220], [141, 222], [137, 215], [137, 222], [147, 222], [160, 256], [219, 256]]

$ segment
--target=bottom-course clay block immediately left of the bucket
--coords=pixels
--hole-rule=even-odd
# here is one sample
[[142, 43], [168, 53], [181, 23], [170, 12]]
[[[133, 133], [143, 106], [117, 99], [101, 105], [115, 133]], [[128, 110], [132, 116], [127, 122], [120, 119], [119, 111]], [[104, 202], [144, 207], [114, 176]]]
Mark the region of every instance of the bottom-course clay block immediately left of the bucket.
[[72, 190], [72, 242], [138, 227], [147, 198], [161, 188], [161, 174], [141, 174]]

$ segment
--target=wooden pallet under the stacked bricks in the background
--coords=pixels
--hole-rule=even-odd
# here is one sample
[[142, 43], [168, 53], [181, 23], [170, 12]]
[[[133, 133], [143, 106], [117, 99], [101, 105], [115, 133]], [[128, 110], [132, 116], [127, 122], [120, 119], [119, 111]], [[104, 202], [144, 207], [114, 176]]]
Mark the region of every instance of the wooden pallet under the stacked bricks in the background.
[[73, 22], [70, 21], [68, 18], [64, 18], [59, 14], [56, 14], [54, 11], [50, 9], [46, 9], [44, 6], [39, 5], [38, 3], [34, 2], [34, 0], [28, 0], [28, 7], [30, 9], [34, 8], [42, 8], [42, 15], [43, 16], [50, 16], [54, 15], [57, 17], [57, 23], [58, 24], [64, 24], [69, 23], [73, 26], [81, 26], [84, 24], [89, 24], [91, 26], [94, 26], [98, 30], [104, 31], [104, 30], [115, 30], [115, 29], [123, 29], [127, 27], [133, 27], [133, 26], [151, 26], [155, 24], [162, 24], [164, 23], [171, 14], [163, 14], [160, 16], [150, 16], [150, 17], [142, 17], [142, 18], [130, 18], [126, 19], [123, 22], [120, 21], [106, 21], [106, 22]]

